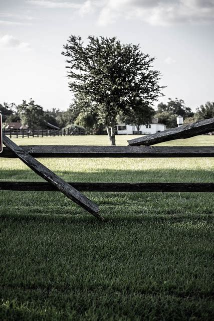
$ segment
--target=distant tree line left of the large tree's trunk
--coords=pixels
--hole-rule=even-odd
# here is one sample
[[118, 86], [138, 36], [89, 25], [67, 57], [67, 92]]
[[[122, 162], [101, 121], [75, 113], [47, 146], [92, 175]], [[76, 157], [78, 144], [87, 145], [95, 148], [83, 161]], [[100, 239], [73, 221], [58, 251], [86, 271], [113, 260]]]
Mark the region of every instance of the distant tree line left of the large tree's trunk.
[[21, 122], [31, 130], [44, 129], [47, 122], [59, 128], [84, 127], [87, 133], [100, 134], [105, 130], [104, 125], [98, 123], [96, 113], [86, 114], [82, 111], [82, 102], [75, 100], [66, 110], [52, 108], [44, 110], [31, 98], [29, 102], [23, 100], [21, 104], [0, 103], [3, 123]]

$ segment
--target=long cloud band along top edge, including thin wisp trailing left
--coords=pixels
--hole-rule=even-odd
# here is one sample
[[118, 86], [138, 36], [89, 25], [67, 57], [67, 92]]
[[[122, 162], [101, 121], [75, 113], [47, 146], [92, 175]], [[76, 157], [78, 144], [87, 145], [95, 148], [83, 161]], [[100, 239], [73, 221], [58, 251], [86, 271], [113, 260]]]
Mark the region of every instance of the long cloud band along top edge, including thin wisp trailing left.
[[214, 0], [26, 0], [42, 8], [75, 9], [80, 16], [96, 13], [107, 26], [121, 19], [138, 19], [153, 26], [214, 22]]

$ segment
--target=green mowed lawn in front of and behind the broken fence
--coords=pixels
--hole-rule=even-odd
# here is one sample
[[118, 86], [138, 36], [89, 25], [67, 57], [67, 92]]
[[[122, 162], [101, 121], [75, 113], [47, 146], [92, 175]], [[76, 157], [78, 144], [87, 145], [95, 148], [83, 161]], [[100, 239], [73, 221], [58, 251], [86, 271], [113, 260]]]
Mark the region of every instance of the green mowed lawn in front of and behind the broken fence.
[[[135, 136], [117, 136], [126, 145]], [[14, 138], [108, 145], [107, 136]], [[162, 145], [213, 145], [197, 136]], [[212, 158], [40, 158], [66, 181], [212, 182]], [[0, 180], [43, 181], [0, 158]], [[0, 191], [3, 320], [213, 319], [213, 194], [85, 193], [106, 222], [61, 193]]]

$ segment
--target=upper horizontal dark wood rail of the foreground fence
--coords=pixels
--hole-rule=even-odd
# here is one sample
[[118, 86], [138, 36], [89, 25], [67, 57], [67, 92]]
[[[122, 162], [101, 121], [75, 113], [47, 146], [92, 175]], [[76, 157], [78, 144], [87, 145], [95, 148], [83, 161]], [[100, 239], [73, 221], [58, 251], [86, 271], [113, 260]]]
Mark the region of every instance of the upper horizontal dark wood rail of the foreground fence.
[[[213, 146], [20, 146], [34, 157], [213, 157]], [[0, 157], [18, 157], [4, 147]]]

